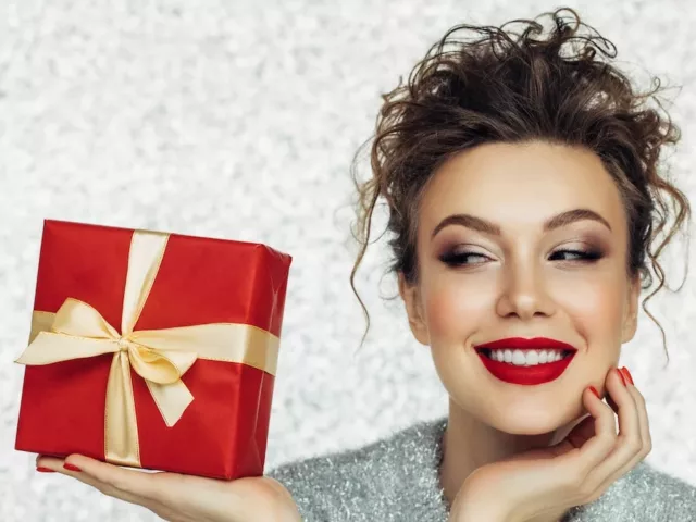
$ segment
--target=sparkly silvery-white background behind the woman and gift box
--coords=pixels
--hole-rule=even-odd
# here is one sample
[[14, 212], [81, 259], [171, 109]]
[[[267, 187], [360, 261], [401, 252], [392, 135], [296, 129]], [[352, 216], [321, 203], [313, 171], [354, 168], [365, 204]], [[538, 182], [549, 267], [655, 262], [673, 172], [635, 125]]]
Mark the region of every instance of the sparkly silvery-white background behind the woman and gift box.
[[[696, 9], [571, 2], [638, 80], [659, 74], [684, 132], [668, 160], [696, 201]], [[0, 1], [0, 520], [150, 521], [144, 509], [34, 471], [13, 450], [41, 220], [266, 243], [294, 256], [268, 465], [356, 447], [446, 411], [373, 247], [348, 274], [351, 154], [378, 95], [459, 22], [532, 17], [555, 3], [451, 1]], [[643, 67], [643, 69], [641, 69]], [[377, 225], [384, 221], [378, 221]], [[378, 228], [381, 231], [381, 228]], [[692, 251], [692, 256], [696, 252]], [[685, 243], [670, 251], [681, 282]], [[691, 260], [692, 272], [696, 268]], [[696, 278], [652, 301], [623, 362], [648, 400], [648, 461], [696, 484]]]

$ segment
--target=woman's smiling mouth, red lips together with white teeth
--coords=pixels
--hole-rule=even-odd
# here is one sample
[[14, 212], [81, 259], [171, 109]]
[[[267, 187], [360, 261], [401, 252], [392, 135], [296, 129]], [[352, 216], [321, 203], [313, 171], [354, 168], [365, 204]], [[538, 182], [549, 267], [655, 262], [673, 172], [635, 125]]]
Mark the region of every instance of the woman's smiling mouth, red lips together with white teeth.
[[567, 343], [545, 337], [500, 339], [475, 346], [474, 349], [494, 377], [520, 385], [557, 380], [577, 351]]

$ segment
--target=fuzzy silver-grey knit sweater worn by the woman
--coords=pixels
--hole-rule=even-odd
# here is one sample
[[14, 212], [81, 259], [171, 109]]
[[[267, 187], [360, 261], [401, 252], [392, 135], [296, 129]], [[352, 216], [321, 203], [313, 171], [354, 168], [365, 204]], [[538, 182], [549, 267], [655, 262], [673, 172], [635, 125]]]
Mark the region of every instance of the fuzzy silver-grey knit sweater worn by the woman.
[[[443, 522], [438, 480], [446, 419], [370, 446], [266, 473], [287, 487], [306, 522]], [[483, 521], [482, 521], [483, 522]], [[696, 522], [696, 487], [641, 463], [563, 522]]]

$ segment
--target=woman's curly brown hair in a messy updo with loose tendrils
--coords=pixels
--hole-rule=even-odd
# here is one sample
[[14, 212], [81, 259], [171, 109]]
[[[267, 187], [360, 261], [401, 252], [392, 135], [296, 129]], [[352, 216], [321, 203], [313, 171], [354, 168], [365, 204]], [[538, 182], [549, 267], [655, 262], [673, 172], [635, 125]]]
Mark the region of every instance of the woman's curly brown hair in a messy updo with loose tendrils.
[[[572, 26], [560, 16], [563, 11], [570, 12]], [[543, 33], [537, 20], [546, 15], [556, 27], [547, 39], [536, 38]], [[521, 34], [504, 30], [517, 22], [526, 25]], [[581, 26], [591, 35], [580, 35]], [[473, 41], [456, 39], [464, 29], [483, 36]], [[369, 245], [380, 197], [386, 200], [389, 215], [389, 271], [402, 272], [412, 284], [418, 281], [419, 201], [438, 166], [481, 144], [543, 140], [594, 151], [613, 177], [629, 221], [627, 274], [639, 275], [642, 289], [649, 288], [649, 259], [659, 284], [644, 299], [643, 309], [660, 328], [667, 352], [664, 330], [646, 302], [664, 286], [657, 258], [691, 215], [686, 196], [658, 172], [662, 146], [675, 145], [681, 130], [669, 114], [662, 116], [647, 107], [646, 101], [652, 99], [662, 110], [655, 96], [660, 90], [659, 78], [652, 78], [651, 91], [635, 92], [624, 74], [596, 58], [597, 51], [610, 59], [617, 55], [613, 44], [582, 23], [570, 8], [500, 27], [461, 24], [430, 49], [406, 85], [399, 82], [383, 95], [371, 147], [372, 177], [361, 183], [356, 167], [358, 154], [369, 142], [358, 150], [352, 165], [358, 190], [352, 232], [361, 248], [350, 284], [368, 323], [361, 346], [370, 315], [356, 290], [355, 276]], [[658, 240], [670, 217], [670, 202], [674, 223]]]

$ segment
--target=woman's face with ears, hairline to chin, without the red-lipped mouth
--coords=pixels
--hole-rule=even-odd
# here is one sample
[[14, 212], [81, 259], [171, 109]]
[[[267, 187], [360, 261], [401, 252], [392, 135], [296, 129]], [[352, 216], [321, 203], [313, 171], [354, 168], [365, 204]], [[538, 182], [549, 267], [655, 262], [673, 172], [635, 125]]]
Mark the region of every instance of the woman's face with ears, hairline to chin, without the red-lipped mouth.
[[[400, 277], [399, 287], [451, 400], [513, 434], [548, 433], [581, 417], [584, 388], [602, 393], [635, 333], [639, 285], [626, 275], [626, 249], [619, 191], [588, 150], [486, 144], [445, 163], [419, 209], [420, 279], [408, 286]], [[557, 378], [515, 384], [486, 370], [474, 349], [511, 337], [547, 337], [577, 351]]]

